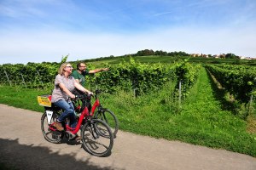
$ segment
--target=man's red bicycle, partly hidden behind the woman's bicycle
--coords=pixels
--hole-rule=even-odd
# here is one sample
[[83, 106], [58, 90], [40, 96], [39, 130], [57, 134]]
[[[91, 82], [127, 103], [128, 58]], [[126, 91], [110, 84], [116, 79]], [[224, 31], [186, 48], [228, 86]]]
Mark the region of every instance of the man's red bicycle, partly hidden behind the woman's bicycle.
[[[110, 111], [108, 108], [103, 108], [101, 105], [98, 94], [101, 94], [101, 90], [96, 90], [95, 92], [95, 102], [91, 106], [91, 95], [79, 94], [77, 100], [73, 100], [73, 105], [75, 106], [75, 111], [80, 113], [83, 111], [84, 107], [87, 107], [90, 111], [90, 114], [96, 118], [100, 119], [103, 122], [106, 122], [111, 128], [113, 133], [113, 138], [116, 138], [116, 134], [119, 130], [119, 121], [118, 118], [114, 115], [113, 111]], [[82, 105], [80, 103], [82, 101]]]

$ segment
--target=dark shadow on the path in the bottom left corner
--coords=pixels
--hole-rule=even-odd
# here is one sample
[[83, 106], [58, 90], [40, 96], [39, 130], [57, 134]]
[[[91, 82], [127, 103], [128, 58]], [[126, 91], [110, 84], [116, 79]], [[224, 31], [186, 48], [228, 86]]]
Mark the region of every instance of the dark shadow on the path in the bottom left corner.
[[[59, 155], [45, 146], [19, 144], [18, 139], [0, 139], [0, 169], [90, 169], [113, 170], [113, 167], [99, 167], [90, 163], [90, 157], [83, 161], [75, 159], [75, 154]], [[12, 169], [12, 168], [11, 168]], [[115, 168], [116, 169], [116, 168]]]

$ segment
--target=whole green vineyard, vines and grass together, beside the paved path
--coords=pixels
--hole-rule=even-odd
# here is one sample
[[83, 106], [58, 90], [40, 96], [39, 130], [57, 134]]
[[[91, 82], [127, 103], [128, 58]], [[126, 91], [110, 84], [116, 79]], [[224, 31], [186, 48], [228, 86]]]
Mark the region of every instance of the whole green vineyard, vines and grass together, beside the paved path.
[[[60, 65], [0, 65], [0, 102], [41, 112], [36, 96], [50, 93]], [[95, 69], [94, 64], [87, 66]], [[203, 67], [185, 59], [141, 63], [134, 58], [105, 66], [109, 71], [86, 77], [86, 88], [104, 89], [103, 105], [116, 113], [120, 129], [256, 156], [253, 66]], [[221, 92], [230, 94], [228, 102], [223, 102], [213, 79]], [[224, 107], [234, 103], [242, 116]]]

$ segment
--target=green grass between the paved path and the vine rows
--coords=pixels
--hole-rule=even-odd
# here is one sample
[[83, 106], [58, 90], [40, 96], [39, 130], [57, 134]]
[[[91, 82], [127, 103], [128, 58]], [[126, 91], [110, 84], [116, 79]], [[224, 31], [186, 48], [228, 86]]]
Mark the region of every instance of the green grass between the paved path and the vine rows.
[[[256, 134], [247, 133], [246, 121], [222, 109], [205, 69], [201, 69], [181, 110], [172, 97], [174, 85], [169, 82], [164, 88], [137, 98], [132, 91], [119, 90], [116, 94], [102, 94], [100, 99], [118, 116], [119, 127], [124, 131], [256, 157]], [[0, 103], [39, 112], [43, 107], [38, 105], [37, 96], [50, 91], [14, 87], [0, 90]]]

